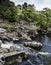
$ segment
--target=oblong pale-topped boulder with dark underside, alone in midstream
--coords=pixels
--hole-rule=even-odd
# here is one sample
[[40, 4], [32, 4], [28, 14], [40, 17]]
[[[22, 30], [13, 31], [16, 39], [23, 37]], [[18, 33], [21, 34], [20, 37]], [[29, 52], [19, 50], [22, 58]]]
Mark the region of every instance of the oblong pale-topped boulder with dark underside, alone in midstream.
[[39, 42], [25, 42], [24, 46], [31, 47], [35, 50], [41, 50], [41, 48], [42, 48], [42, 44]]

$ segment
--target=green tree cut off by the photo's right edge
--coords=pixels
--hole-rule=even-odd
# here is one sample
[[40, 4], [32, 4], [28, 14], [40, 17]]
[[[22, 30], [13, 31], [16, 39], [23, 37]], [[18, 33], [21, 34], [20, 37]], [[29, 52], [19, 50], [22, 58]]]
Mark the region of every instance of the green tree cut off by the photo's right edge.
[[42, 13], [46, 16], [46, 27], [48, 29], [51, 24], [51, 9], [43, 8]]

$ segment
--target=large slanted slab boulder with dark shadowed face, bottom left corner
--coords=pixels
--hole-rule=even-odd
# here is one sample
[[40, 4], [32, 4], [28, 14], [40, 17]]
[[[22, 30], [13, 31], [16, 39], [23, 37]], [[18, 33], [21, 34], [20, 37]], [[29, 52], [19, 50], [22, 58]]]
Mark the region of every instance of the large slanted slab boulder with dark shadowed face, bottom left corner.
[[24, 51], [0, 54], [0, 64], [2, 65], [18, 64], [27, 59], [28, 55]]

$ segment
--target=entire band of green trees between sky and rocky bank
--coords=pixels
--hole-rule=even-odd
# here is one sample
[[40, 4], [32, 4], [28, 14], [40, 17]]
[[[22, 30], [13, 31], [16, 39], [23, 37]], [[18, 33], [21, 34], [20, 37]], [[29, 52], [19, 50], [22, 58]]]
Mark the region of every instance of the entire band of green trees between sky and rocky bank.
[[9, 0], [0, 0], [0, 17], [11, 22], [25, 20], [33, 22], [42, 29], [51, 27], [51, 9], [44, 8], [42, 11], [36, 11], [35, 6], [27, 4], [17, 5]]

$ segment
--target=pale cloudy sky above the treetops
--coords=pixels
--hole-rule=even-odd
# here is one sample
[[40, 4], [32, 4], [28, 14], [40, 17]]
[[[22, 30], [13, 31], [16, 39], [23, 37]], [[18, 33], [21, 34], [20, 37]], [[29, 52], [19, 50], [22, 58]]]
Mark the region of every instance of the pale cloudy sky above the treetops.
[[16, 5], [27, 2], [28, 4], [34, 4], [36, 10], [42, 10], [45, 7], [51, 8], [51, 0], [11, 0]]

